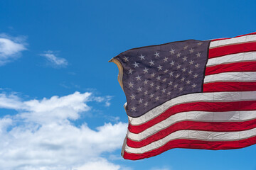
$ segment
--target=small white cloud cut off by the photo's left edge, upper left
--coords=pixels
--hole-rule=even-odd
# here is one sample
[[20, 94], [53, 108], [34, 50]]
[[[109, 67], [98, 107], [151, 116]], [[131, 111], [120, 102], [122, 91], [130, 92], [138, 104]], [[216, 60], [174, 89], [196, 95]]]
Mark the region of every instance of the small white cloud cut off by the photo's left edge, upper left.
[[13, 38], [0, 34], [0, 66], [21, 56], [21, 52], [26, 50], [25, 40], [24, 37]]

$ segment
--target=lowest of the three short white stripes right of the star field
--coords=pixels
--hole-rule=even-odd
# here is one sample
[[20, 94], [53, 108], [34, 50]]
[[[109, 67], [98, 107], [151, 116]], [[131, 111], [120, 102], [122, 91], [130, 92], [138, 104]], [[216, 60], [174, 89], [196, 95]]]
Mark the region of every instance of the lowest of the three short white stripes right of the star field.
[[205, 77], [203, 83], [206, 84], [216, 81], [252, 82], [256, 81], [256, 72], [223, 72], [211, 74]]

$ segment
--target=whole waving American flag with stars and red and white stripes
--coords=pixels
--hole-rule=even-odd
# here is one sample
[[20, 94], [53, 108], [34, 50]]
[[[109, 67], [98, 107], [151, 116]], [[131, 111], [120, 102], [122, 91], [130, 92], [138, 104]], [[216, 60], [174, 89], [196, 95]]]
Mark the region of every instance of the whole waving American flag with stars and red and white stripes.
[[139, 47], [110, 61], [127, 98], [124, 159], [256, 143], [256, 33]]

